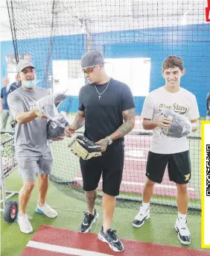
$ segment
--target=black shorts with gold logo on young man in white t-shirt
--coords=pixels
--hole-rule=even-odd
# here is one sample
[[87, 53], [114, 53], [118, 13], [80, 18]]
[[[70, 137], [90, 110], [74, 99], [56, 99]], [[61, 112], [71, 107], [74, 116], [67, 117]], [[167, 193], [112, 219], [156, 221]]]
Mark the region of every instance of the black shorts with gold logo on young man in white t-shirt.
[[168, 165], [170, 181], [187, 184], [191, 178], [191, 160], [189, 151], [176, 154], [148, 153], [146, 176], [151, 181], [162, 183], [165, 168]]

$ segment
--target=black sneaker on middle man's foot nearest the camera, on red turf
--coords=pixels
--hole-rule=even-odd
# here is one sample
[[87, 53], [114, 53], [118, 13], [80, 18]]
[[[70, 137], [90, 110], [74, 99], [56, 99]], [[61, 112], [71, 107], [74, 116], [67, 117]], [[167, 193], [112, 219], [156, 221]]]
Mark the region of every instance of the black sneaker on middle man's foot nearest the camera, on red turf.
[[112, 230], [112, 228], [109, 228], [106, 233], [104, 233], [103, 227], [101, 227], [101, 231], [98, 234], [98, 239], [102, 242], [109, 243], [109, 247], [114, 252], [124, 251], [124, 246], [121, 243], [121, 240], [118, 239], [116, 231]]

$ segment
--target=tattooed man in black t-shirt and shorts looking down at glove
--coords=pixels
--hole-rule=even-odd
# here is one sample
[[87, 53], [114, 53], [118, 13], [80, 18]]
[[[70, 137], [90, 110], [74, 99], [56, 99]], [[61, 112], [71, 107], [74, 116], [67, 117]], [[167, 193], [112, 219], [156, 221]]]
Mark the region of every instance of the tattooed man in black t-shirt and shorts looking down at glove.
[[80, 232], [88, 232], [98, 219], [95, 210], [97, 187], [103, 177], [103, 226], [98, 238], [109, 243], [115, 252], [124, 246], [111, 228], [115, 210], [115, 196], [118, 196], [124, 167], [124, 136], [135, 125], [135, 105], [127, 84], [109, 78], [104, 70], [104, 57], [99, 51], [88, 51], [81, 59], [81, 66], [89, 84], [79, 94], [79, 107], [73, 125], [66, 128], [71, 137], [78, 128], [85, 125], [84, 136], [101, 145], [102, 156], [89, 160], [80, 158], [88, 211], [85, 213]]

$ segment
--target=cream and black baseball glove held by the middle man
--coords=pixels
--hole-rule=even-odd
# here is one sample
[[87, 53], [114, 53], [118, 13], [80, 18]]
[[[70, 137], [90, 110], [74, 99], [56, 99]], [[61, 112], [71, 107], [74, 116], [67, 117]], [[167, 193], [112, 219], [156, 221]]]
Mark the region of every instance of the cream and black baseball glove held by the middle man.
[[68, 145], [71, 152], [77, 157], [89, 160], [92, 157], [101, 157], [101, 146], [96, 145], [82, 135], [77, 135]]

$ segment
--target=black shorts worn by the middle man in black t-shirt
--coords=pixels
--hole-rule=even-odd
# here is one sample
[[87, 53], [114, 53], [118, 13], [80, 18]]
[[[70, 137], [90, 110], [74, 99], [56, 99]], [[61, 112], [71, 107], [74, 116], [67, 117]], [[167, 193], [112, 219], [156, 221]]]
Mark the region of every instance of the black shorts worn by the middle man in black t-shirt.
[[109, 196], [118, 196], [124, 168], [124, 145], [112, 152], [102, 153], [101, 157], [89, 160], [80, 158], [80, 168], [85, 191], [96, 190], [102, 175], [103, 192]]

